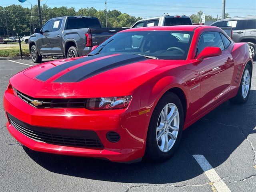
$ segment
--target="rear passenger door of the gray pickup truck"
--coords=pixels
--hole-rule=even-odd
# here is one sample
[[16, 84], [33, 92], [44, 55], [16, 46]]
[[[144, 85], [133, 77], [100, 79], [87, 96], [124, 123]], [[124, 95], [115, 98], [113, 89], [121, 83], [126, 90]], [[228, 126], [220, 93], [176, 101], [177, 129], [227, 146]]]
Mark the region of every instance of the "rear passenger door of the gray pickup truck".
[[62, 20], [56, 19], [53, 22], [48, 40], [50, 42], [50, 54], [62, 55], [64, 53], [62, 46]]

